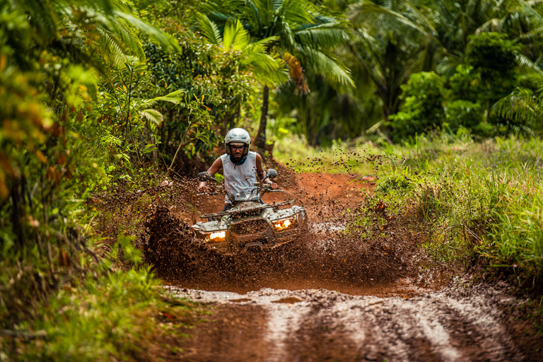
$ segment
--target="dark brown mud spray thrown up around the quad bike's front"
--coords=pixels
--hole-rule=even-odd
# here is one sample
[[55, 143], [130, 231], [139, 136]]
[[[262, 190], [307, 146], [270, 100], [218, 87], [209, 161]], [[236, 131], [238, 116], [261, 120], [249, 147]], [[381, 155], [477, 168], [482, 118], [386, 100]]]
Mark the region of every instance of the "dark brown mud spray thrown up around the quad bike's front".
[[[167, 284], [208, 291], [325, 288], [352, 295], [413, 296], [446, 282], [443, 270], [421, 274], [424, 235], [409, 230], [406, 218], [387, 215], [384, 204], [361, 199], [348, 214], [333, 200], [306, 207], [327, 221], [310, 224], [304, 238], [277, 250], [232, 256], [197, 240], [179, 213], [161, 206], [146, 222], [141, 247]], [[362, 216], [385, 223], [356, 226]]]

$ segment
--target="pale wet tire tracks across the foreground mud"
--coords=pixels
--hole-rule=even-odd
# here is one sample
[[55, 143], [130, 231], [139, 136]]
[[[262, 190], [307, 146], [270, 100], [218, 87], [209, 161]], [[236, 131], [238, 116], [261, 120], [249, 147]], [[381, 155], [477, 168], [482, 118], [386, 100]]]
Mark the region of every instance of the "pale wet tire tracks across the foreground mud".
[[[259, 361], [527, 361], [503, 312], [519, 302], [487, 285], [464, 289], [455, 281], [410, 299], [271, 288], [180, 296], [266, 310], [268, 352]], [[228, 301], [233, 298], [241, 302]], [[293, 298], [300, 302], [274, 303]]]

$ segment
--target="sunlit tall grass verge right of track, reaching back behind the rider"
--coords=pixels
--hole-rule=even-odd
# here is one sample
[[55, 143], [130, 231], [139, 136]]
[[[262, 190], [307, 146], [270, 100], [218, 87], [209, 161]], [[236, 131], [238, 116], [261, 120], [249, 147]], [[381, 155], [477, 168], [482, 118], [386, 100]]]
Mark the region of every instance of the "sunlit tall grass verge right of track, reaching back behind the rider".
[[[288, 146], [279, 144], [275, 154], [283, 162], [282, 157], [293, 157], [296, 165], [301, 158], [288, 150], [301, 147], [291, 140]], [[311, 157], [326, 157], [330, 165], [339, 154], [387, 161], [358, 164], [358, 170], [378, 175], [376, 196], [397, 204], [397, 212], [416, 216], [417, 227], [428, 231], [426, 247], [436, 261], [465, 265], [479, 256], [522, 281], [543, 276], [542, 140], [476, 142], [440, 134], [419, 137], [411, 145], [337, 148], [341, 151], [311, 151]]]

